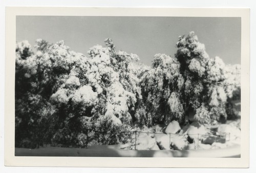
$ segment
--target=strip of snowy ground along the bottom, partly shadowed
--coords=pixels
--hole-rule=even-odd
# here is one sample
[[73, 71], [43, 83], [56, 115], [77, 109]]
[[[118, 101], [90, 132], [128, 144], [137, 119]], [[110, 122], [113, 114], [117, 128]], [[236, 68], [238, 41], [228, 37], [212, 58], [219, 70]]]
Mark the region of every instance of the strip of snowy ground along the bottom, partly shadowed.
[[127, 150], [118, 145], [97, 145], [89, 148], [45, 147], [15, 148], [15, 156], [71, 157], [240, 157], [240, 145], [219, 149], [198, 150]]

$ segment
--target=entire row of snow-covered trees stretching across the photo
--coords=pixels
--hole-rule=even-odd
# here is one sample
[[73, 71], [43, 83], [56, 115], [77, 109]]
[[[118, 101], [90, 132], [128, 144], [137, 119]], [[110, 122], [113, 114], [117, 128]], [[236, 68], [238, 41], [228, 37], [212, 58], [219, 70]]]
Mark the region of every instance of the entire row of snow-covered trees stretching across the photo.
[[209, 58], [194, 32], [180, 36], [175, 57], [152, 66], [136, 54], [94, 46], [88, 57], [63, 41], [16, 44], [15, 146], [86, 147], [125, 143], [133, 128], [177, 120], [211, 123], [235, 118], [240, 65]]

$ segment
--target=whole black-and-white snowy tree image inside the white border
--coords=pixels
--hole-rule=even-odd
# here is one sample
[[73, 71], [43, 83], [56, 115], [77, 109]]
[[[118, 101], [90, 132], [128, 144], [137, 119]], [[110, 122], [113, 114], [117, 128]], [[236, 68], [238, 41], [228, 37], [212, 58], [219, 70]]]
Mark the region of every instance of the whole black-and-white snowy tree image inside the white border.
[[241, 159], [241, 16], [17, 14], [15, 32], [14, 157]]

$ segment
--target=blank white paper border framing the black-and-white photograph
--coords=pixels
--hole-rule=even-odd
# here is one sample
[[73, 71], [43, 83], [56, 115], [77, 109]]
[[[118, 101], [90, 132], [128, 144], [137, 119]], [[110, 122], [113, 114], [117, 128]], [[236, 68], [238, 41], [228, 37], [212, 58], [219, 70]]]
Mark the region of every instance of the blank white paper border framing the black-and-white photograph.
[[[5, 165], [75, 167], [249, 167], [249, 9], [6, 7]], [[241, 158], [15, 157], [17, 15], [241, 17]]]

